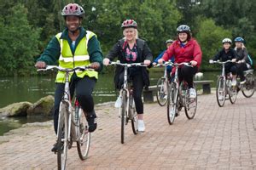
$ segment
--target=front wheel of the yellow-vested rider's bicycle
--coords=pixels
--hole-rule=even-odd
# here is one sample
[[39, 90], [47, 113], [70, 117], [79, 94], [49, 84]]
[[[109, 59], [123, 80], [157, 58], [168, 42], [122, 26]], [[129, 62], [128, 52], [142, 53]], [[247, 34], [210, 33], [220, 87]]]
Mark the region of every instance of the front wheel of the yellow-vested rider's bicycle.
[[59, 124], [57, 130], [57, 161], [58, 161], [58, 169], [65, 169], [67, 163], [67, 124], [68, 124], [68, 109], [67, 104], [62, 103], [60, 105], [59, 111]]

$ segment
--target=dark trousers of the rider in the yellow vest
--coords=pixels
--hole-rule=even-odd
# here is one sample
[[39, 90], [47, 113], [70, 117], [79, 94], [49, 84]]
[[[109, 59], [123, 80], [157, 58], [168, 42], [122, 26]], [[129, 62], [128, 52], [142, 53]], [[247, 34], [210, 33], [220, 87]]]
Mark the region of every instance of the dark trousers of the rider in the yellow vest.
[[[76, 98], [79, 100], [79, 105], [81, 105], [84, 112], [87, 115], [95, 114], [94, 111], [94, 101], [92, 98], [92, 92], [96, 85], [96, 78], [94, 77], [77, 77], [74, 73], [71, 77], [70, 82], [70, 95], [73, 97], [74, 92], [76, 93]], [[61, 103], [61, 99], [63, 97], [65, 84], [64, 83], [56, 83], [55, 88], [55, 106], [54, 106], [54, 127], [55, 133], [57, 134], [58, 128], [58, 118], [59, 118], [59, 107]]]

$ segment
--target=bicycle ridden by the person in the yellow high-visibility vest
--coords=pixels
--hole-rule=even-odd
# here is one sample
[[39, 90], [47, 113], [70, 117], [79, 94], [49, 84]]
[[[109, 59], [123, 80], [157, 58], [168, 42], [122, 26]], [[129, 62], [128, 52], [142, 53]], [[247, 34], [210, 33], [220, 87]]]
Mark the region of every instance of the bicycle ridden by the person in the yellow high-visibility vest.
[[75, 67], [73, 69], [65, 69], [56, 65], [48, 65], [45, 69], [38, 71], [57, 70], [65, 72], [65, 90], [60, 103], [58, 128], [57, 128], [57, 162], [58, 169], [66, 169], [67, 149], [71, 149], [73, 141], [77, 142], [77, 150], [81, 160], [85, 160], [90, 148], [90, 132], [88, 131], [88, 122], [84, 115], [84, 111], [79, 105], [79, 101], [75, 99], [72, 105], [72, 97], [70, 96], [68, 75], [70, 72], [77, 70], [92, 70], [89, 66]]

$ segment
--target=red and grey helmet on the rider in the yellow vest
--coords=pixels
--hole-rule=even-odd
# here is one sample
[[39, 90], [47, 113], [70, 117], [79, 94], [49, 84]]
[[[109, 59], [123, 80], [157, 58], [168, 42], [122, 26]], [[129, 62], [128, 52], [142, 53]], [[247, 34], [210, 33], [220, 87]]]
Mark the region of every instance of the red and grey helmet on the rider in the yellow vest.
[[61, 12], [62, 16], [79, 16], [83, 17], [84, 15], [84, 8], [82, 8], [79, 4], [77, 3], [68, 3]]

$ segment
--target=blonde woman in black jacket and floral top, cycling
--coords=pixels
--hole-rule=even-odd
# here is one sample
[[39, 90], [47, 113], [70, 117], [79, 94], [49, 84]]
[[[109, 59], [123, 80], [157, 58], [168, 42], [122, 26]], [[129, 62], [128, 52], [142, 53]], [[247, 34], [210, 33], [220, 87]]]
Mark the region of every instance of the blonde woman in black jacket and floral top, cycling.
[[[110, 60], [118, 57], [121, 63], [141, 63], [150, 65], [153, 55], [148, 48], [147, 42], [138, 38], [137, 22], [135, 20], [125, 20], [122, 25], [124, 38], [120, 39], [109, 51], [103, 60], [104, 65], [108, 65]], [[128, 70], [129, 77], [133, 83], [133, 96], [137, 111], [137, 129], [145, 131], [143, 122], [143, 87], [149, 86], [149, 76], [146, 67], [131, 67]], [[120, 89], [124, 82], [124, 68], [117, 66], [114, 76], [115, 88]]]

